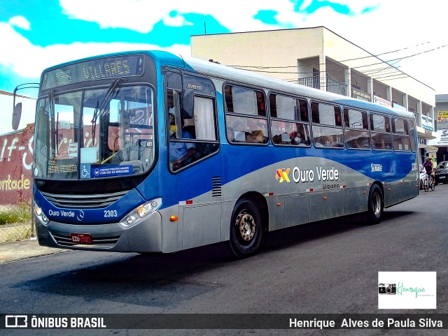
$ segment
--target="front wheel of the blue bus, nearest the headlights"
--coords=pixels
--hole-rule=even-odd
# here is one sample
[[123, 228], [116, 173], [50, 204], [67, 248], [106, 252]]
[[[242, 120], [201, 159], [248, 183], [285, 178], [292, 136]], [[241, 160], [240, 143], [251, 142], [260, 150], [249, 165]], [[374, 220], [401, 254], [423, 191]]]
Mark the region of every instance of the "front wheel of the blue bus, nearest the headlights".
[[253, 200], [237, 202], [230, 222], [230, 249], [237, 258], [247, 258], [258, 251], [262, 241], [262, 219]]

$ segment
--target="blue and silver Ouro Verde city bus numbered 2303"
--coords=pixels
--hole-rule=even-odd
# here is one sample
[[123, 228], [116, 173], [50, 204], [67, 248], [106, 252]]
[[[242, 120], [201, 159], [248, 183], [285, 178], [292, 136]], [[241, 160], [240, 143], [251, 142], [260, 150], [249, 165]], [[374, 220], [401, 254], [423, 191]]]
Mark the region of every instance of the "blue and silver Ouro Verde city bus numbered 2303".
[[34, 136], [39, 244], [173, 252], [419, 193], [411, 112], [162, 51], [43, 71]]

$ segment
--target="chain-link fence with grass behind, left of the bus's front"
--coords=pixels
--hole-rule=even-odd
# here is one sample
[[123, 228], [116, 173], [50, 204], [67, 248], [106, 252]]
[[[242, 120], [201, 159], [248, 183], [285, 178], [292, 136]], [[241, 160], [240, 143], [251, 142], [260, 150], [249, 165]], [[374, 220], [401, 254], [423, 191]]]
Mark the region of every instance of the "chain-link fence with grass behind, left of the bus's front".
[[0, 244], [28, 240], [36, 236], [31, 201], [8, 204], [0, 199]]

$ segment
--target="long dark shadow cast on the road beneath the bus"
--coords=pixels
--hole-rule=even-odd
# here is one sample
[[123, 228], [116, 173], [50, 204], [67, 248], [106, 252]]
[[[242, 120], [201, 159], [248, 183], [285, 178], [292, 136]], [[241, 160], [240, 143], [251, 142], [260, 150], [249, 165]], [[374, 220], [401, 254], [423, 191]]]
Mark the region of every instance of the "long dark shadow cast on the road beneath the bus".
[[[347, 216], [273, 231], [269, 233], [259, 256], [265, 258], [277, 250], [300, 248], [300, 244], [305, 242], [349, 231], [382, 230], [384, 228], [381, 226], [412, 213], [387, 211], [384, 213], [384, 221], [376, 226], [367, 226], [358, 216]], [[234, 268], [241, 268], [241, 265], [251, 268], [250, 264], [253, 263], [251, 258], [233, 262], [235, 258], [232, 258], [228, 250], [228, 242], [173, 254], [123, 254], [113, 261], [104, 258], [104, 262], [101, 257], [109, 254], [92, 252], [99, 255], [97, 261], [89, 258], [83, 261], [85, 253], [69, 253], [71, 258], [79, 260], [79, 268], [73, 267], [69, 271], [34, 279], [18, 286], [29, 291], [66, 295], [87, 301], [110, 300], [165, 309], [225, 286], [214, 275], [214, 268], [228, 268], [228, 272], [232, 272]], [[52, 256], [56, 258], [53, 262], [57, 262], [58, 258], [63, 262], [66, 255], [68, 254]], [[83, 266], [86, 264], [87, 266]]]

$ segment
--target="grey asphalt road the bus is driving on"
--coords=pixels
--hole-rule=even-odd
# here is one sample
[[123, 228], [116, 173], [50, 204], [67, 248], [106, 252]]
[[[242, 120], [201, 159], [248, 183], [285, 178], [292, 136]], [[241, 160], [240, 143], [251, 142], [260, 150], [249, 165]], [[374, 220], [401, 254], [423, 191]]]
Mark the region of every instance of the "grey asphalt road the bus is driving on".
[[[359, 217], [269, 235], [252, 258], [226, 244], [176, 254], [70, 251], [0, 265], [3, 314], [448, 313], [448, 185]], [[379, 271], [437, 272], [437, 309], [378, 309]], [[0, 330], [0, 334], [5, 331]], [[49, 335], [61, 330], [13, 330]], [[447, 330], [64, 330], [64, 335], [447, 335]]]

